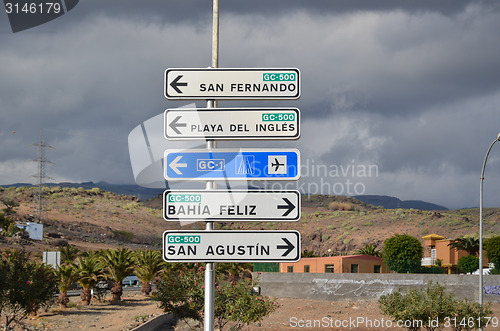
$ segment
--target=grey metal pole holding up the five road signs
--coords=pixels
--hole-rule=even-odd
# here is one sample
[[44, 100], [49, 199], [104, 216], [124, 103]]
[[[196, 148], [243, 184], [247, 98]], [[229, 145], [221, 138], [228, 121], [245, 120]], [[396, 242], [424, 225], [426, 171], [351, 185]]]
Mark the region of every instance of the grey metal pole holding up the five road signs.
[[[219, 0], [213, 0], [213, 23], [212, 23], [212, 68], [219, 67]], [[207, 100], [207, 108], [217, 108], [216, 100]], [[207, 140], [207, 148], [217, 148], [214, 140]], [[217, 187], [215, 181], [208, 181], [207, 190]], [[214, 222], [206, 223], [206, 231], [214, 229]], [[215, 263], [207, 263], [205, 268], [205, 320], [204, 331], [214, 330], [214, 299], [215, 299]]]

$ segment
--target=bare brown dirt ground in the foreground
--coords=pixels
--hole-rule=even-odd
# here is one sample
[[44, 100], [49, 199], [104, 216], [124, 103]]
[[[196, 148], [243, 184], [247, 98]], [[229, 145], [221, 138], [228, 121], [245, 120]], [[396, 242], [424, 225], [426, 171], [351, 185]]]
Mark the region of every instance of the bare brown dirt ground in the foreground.
[[[403, 330], [396, 325], [388, 327], [390, 320], [380, 313], [376, 301], [280, 298], [278, 303], [280, 308], [269, 317], [243, 330]], [[500, 303], [494, 303], [492, 309], [493, 316], [500, 318]], [[130, 292], [124, 295], [120, 304], [93, 302], [90, 306], [82, 306], [79, 297], [72, 297], [69, 308], [53, 308], [48, 312], [40, 312], [39, 316], [29, 318], [25, 324], [27, 329], [31, 326], [31, 330], [124, 331], [132, 330], [160, 314], [162, 311], [156, 302], [138, 292]], [[228, 329], [226, 326], [224, 330]], [[175, 330], [191, 329], [180, 322]], [[498, 327], [489, 326], [485, 330], [498, 330]]]

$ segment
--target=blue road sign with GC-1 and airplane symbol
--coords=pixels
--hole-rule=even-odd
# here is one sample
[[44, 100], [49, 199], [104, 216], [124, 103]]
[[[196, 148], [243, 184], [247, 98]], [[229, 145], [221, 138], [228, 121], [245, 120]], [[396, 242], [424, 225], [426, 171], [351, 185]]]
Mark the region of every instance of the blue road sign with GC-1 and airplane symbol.
[[167, 180], [296, 180], [300, 178], [299, 150], [190, 149], [165, 151]]

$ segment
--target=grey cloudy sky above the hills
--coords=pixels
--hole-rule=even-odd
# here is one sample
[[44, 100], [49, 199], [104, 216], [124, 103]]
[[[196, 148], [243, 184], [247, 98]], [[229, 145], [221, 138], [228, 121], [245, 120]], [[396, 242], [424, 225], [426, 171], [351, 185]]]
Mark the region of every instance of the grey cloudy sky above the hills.
[[[220, 13], [220, 67], [299, 68], [302, 96], [219, 106], [298, 107], [302, 137], [219, 146], [298, 148], [311, 193], [478, 205], [500, 132], [500, 2], [221, 0]], [[41, 129], [51, 181], [134, 183], [129, 134], [189, 103], [165, 99], [163, 74], [210, 66], [211, 33], [210, 0], [85, 0], [17, 33], [1, 12], [0, 184], [36, 182]], [[500, 144], [486, 206], [500, 206], [499, 168]]]

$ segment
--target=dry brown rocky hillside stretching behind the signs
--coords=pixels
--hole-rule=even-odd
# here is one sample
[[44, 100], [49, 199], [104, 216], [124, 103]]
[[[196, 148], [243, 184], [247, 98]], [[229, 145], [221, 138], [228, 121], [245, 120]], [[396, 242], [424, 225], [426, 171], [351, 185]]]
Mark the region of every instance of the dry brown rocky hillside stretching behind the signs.
[[[298, 222], [217, 223], [217, 229], [298, 230], [303, 249], [316, 254], [349, 254], [366, 244], [381, 247], [396, 233], [417, 238], [430, 233], [456, 238], [478, 233], [478, 210], [423, 211], [384, 209], [354, 198], [341, 196], [304, 196], [302, 218]], [[16, 221], [34, 221], [37, 215], [36, 188], [0, 189], [0, 200], [14, 200]], [[484, 211], [484, 234], [500, 234], [500, 209]], [[13, 246], [41, 252], [69, 242], [81, 249], [109, 246], [160, 248], [162, 233], [180, 229], [176, 222], [162, 218], [161, 197], [140, 201], [98, 188], [45, 188], [42, 242], [0, 236], [0, 249]], [[196, 223], [183, 229], [203, 229]], [[52, 248], [51, 248], [52, 247]]]

